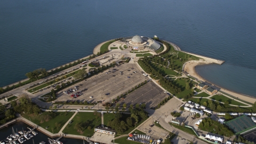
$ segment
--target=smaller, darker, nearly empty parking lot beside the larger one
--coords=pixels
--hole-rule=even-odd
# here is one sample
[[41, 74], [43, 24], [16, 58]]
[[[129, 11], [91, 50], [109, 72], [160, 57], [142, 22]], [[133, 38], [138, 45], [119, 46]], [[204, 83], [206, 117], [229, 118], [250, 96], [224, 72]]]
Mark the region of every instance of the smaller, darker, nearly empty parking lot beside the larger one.
[[127, 106], [136, 105], [136, 103], [146, 103], [146, 108], [156, 107], [158, 103], [163, 101], [166, 97], [169, 97], [164, 91], [153, 82], [148, 82], [139, 89], [127, 95], [125, 100], [118, 103]]

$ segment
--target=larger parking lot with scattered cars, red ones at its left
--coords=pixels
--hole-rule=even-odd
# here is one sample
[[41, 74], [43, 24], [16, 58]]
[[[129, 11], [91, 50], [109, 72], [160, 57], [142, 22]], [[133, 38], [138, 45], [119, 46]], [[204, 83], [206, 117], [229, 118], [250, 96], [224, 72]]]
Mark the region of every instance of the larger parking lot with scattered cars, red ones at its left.
[[[116, 69], [114, 73], [113, 69]], [[137, 71], [137, 73], [133, 73], [133, 71]], [[142, 75], [141, 70], [137, 67], [137, 65], [133, 63], [124, 63], [121, 66], [110, 68], [103, 71], [103, 73], [87, 78], [85, 81], [67, 87], [63, 91], [67, 91], [69, 89], [77, 89], [77, 91], [73, 91], [69, 94], [63, 93], [62, 91], [58, 94], [58, 100], [87, 100], [88, 102], [108, 102], [116, 99], [117, 96], [120, 96], [128, 90], [131, 90], [132, 87], [144, 82], [145, 80], [148, 81], [149, 78]], [[75, 86], [78, 87], [75, 88]], [[78, 95], [79, 97], [70, 97], [71, 95], [76, 94], [77, 92], [84, 89], [87, 90], [81, 92], [81, 95]]]

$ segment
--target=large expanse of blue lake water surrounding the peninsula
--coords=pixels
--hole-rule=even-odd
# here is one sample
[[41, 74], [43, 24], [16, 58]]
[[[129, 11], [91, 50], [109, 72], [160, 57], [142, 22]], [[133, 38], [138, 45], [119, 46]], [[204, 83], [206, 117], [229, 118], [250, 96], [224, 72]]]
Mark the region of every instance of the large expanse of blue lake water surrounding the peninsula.
[[210, 82], [256, 97], [256, 1], [0, 1], [0, 86], [92, 54], [112, 38], [166, 39], [225, 60], [198, 67]]

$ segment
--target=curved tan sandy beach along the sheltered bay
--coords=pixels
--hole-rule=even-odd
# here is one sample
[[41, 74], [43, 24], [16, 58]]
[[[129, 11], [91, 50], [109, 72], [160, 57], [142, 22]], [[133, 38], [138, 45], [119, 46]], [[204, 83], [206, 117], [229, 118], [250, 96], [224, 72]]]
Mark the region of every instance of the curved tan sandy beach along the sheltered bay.
[[[207, 65], [210, 64], [210, 61], [203, 61], [203, 60], [199, 60], [199, 61], [188, 61], [184, 67], [184, 70], [187, 71], [187, 73], [189, 73], [189, 75], [197, 78], [199, 81], [203, 81], [203, 82], [207, 82], [206, 79], [204, 79], [203, 77], [199, 76], [195, 70], [195, 67], [198, 65]], [[211, 83], [211, 82], [208, 82]], [[213, 83], [211, 83], [212, 85], [214, 85]], [[246, 95], [243, 94], [239, 94], [230, 90], [226, 90], [223, 87], [220, 87], [218, 85], [215, 85], [217, 87], [219, 87], [221, 89], [221, 91], [226, 92], [230, 95], [233, 95], [234, 97], [238, 97], [239, 99], [254, 103], [256, 101], [256, 98], [253, 97], [247, 97]]]

